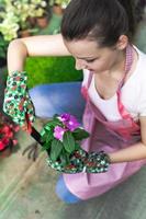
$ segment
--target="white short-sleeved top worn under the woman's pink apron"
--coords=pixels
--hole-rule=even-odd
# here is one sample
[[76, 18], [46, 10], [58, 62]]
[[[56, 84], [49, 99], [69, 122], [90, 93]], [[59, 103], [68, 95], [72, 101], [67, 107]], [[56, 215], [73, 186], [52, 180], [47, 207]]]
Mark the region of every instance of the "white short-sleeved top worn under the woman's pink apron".
[[[137, 67], [121, 90], [122, 103], [134, 120], [137, 120], [139, 116], [146, 116], [146, 55], [137, 48], [136, 50], [139, 56]], [[89, 73], [89, 70], [83, 70], [82, 85], [87, 87]], [[93, 76], [89, 88], [89, 96], [93, 104], [102, 112], [108, 120], [115, 122], [121, 119], [116, 93], [111, 99], [103, 100], [98, 94], [94, 84]]]

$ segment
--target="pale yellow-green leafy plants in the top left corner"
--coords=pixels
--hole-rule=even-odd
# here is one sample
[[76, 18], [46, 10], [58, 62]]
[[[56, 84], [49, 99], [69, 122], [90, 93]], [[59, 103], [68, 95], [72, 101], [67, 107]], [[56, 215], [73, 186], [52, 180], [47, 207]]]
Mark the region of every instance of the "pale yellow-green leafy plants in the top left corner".
[[5, 41], [18, 37], [20, 30], [30, 28], [29, 18], [42, 16], [47, 7], [42, 0], [2, 0], [0, 33]]

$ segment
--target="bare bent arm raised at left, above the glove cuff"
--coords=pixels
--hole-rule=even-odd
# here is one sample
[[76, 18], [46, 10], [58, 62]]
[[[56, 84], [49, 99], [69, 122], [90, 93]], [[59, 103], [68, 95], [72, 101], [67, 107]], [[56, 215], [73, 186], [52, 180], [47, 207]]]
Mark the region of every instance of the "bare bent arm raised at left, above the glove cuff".
[[69, 56], [63, 37], [58, 35], [31, 36], [18, 38], [8, 48], [8, 70], [22, 71], [27, 56]]

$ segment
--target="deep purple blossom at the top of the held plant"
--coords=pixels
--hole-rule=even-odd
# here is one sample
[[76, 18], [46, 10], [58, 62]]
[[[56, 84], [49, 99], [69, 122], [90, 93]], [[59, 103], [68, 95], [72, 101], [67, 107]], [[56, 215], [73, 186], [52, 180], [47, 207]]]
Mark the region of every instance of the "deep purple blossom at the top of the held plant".
[[78, 128], [80, 126], [80, 124], [78, 123], [78, 120], [76, 119], [75, 116], [70, 115], [70, 114], [61, 114], [58, 119], [60, 122], [63, 122], [63, 124], [70, 130], [74, 131], [76, 128]]

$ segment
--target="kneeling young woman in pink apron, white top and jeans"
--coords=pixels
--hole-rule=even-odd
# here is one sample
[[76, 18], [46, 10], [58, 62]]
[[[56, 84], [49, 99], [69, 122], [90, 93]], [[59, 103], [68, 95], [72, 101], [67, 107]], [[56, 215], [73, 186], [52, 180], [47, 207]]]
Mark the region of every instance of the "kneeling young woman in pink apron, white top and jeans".
[[[72, 0], [60, 35], [15, 39], [9, 46], [4, 112], [25, 129], [25, 113], [34, 120], [32, 102], [42, 117], [83, 114], [83, 127], [91, 135], [82, 149], [94, 152], [97, 165], [99, 151], [109, 158], [106, 172], [60, 176], [56, 191], [66, 203], [99, 196], [146, 163], [146, 55], [131, 43], [131, 9], [127, 0]], [[83, 70], [83, 82], [36, 87], [30, 91], [31, 102], [23, 72], [26, 57], [70, 55], [76, 69]]]

